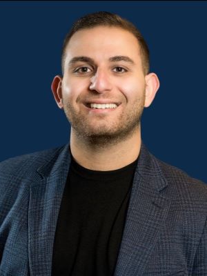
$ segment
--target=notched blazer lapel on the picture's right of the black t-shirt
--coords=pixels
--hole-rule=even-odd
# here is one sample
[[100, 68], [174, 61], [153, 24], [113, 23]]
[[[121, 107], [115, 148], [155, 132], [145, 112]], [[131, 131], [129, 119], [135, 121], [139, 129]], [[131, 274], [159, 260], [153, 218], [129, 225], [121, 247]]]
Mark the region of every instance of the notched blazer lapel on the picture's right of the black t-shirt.
[[155, 157], [141, 146], [115, 276], [141, 276], [168, 215], [167, 184]]

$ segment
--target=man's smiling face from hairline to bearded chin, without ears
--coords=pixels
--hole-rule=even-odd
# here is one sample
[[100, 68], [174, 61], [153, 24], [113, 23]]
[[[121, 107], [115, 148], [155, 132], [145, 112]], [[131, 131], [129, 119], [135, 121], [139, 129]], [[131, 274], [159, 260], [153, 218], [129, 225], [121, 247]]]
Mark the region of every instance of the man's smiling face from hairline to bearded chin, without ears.
[[73, 34], [66, 48], [61, 97], [79, 136], [108, 141], [125, 139], [137, 131], [145, 86], [133, 34], [105, 26]]

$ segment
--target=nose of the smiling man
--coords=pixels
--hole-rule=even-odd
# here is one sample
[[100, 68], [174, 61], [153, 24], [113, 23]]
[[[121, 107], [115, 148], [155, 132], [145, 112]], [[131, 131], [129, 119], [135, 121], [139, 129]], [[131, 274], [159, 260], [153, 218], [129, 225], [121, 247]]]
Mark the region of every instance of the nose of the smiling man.
[[98, 93], [103, 93], [112, 89], [112, 83], [110, 81], [110, 76], [104, 70], [97, 69], [96, 73], [90, 79], [91, 84], [89, 86], [90, 90], [95, 90]]

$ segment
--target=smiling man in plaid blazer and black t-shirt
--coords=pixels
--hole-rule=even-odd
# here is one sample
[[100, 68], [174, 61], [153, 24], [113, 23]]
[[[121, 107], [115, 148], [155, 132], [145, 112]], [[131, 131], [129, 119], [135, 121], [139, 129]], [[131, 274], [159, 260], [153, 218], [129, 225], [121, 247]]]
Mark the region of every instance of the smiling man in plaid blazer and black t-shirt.
[[159, 79], [140, 32], [88, 14], [62, 69], [52, 92], [70, 144], [0, 165], [0, 275], [207, 275], [206, 186], [141, 141]]

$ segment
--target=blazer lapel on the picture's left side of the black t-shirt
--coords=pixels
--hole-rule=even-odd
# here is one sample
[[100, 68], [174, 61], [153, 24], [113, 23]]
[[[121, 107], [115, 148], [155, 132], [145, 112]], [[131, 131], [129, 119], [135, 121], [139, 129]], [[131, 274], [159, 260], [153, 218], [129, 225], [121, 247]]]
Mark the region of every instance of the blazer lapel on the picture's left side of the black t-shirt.
[[28, 243], [31, 276], [50, 276], [52, 249], [63, 189], [70, 166], [69, 145], [39, 168], [42, 179], [30, 185]]

